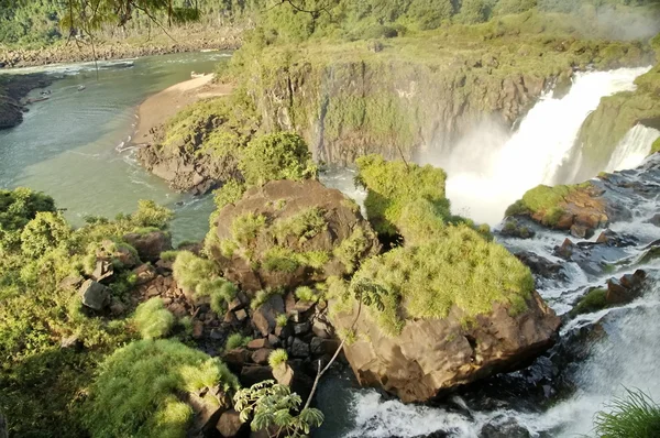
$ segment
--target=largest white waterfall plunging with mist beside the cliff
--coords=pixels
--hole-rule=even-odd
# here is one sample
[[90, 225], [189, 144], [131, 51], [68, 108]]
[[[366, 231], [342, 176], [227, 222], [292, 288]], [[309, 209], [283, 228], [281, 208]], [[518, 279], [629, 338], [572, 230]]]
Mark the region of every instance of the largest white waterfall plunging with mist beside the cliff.
[[543, 96], [516, 132], [484, 124], [462, 139], [449, 154], [429, 153], [420, 161], [447, 171], [447, 194], [454, 212], [496, 225], [506, 207], [526, 190], [552, 180], [584, 119], [596, 109], [601, 98], [634, 90], [635, 78], [647, 70], [578, 73], [566, 96], [561, 99]]

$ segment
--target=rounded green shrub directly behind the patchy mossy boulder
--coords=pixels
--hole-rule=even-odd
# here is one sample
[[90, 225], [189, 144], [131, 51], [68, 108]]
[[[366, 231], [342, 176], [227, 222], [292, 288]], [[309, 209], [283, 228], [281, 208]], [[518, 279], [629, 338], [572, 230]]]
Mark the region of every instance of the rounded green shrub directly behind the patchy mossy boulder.
[[239, 163], [248, 185], [261, 186], [274, 179], [316, 178], [317, 167], [301, 136], [276, 132], [252, 140]]

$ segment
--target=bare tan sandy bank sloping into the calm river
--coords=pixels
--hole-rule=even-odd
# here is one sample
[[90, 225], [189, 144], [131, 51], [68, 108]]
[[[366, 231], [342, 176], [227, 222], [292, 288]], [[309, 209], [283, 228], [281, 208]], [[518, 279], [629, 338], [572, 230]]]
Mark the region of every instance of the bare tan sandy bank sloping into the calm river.
[[215, 84], [213, 75], [184, 80], [148, 97], [138, 108], [135, 144], [152, 144], [158, 127], [190, 103], [200, 99], [231, 94], [233, 86]]

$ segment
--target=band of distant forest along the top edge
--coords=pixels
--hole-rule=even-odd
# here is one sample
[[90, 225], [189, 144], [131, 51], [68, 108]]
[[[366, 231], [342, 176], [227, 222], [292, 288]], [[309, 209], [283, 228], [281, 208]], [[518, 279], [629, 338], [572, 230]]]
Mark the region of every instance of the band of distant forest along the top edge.
[[[658, 0], [0, 0], [0, 43], [51, 44], [68, 36], [64, 29], [69, 28], [140, 30], [191, 20], [251, 25], [255, 19], [266, 31], [294, 41], [312, 34], [381, 37], [437, 29], [443, 22], [481, 23], [535, 8], [582, 14], [585, 25], [591, 20], [610, 22], [622, 29], [614, 37], [630, 39], [658, 31], [657, 17], [637, 8], [657, 11], [659, 4]], [[384, 25], [391, 29], [380, 28]]]

